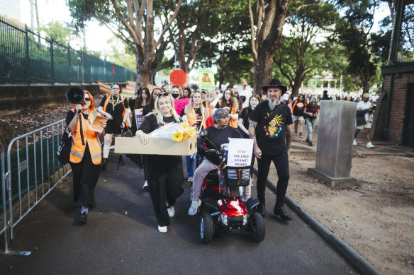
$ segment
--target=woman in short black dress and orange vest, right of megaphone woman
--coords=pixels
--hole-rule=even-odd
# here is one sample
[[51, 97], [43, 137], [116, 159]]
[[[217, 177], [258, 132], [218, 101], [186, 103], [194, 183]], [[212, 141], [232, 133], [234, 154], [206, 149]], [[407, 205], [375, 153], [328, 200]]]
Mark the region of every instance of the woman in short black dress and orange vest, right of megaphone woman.
[[[129, 114], [128, 100], [121, 95], [121, 85], [118, 83], [113, 83], [111, 89], [111, 95], [104, 95], [104, 98], [102, 98], [98, 109], [98, 112], [104, 115], [104, 117], [108, 118], [108, 125], [105, 129], [106, 134], [104, 152], [102, 154], [102, 170], [106, 170], [106, 160], [109, 156], [109, 148], [111, 147], [113, 134], [115, 134], [115, 136], [121, 136], [122, 129], [126, 129], [127, 127], [126, 123]], [[119, 156], [119, 164], [125, 164], [123, 163], [122, 155]]]

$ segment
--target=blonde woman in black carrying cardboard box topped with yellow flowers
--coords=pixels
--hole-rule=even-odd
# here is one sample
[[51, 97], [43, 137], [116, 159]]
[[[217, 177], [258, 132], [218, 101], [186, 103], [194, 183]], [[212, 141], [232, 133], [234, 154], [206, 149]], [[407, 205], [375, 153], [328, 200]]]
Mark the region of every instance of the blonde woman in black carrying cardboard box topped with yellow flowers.
[[[181, 122], [181, 118], [175, 112], [174, 103], [170, 95], [161, 93], [155, 100], [155, 112], [147, 115], [138, 128], [136, 136], [142, 144], [147, 144], [148, 134], [155, 129], [163, 127], [170, 122]], [[174, 217], [174, 204], [176, 199], [183, 194], [181, 187], [184, 180], [183, 163], [181, 156], [147, 155], [148, 187], [155, 218], [158, 222], [158, 230], [167, 232], [169, 218]]]

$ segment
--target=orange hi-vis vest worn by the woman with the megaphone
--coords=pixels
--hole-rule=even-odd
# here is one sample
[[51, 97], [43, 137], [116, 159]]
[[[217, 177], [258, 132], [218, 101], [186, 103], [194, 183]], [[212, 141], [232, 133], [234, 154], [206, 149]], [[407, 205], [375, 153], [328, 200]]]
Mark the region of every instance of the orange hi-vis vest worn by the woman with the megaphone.
[[[75, 115], [77, 111], [72, 109]], [[96, 131], [89, 129], [91, 123], [89, 119], [84, 119], [84, 116], [81, 115], [82, 123], [82, 133], [84, 136], [84, 144], [82, 144], [81, 136], [81, 124], [78, 122], [76, 130], [72, 133], [72, 149], [70, 151], [69, 161], [71, 163], [80, 163], [82, 158], [84, 158], [86, 144], [89, 146], [89, 151], [91, 152], [92, 162], [96, 165], [101, 163], [101, 143], [99, 142], [99, 136], [96, 134]]]

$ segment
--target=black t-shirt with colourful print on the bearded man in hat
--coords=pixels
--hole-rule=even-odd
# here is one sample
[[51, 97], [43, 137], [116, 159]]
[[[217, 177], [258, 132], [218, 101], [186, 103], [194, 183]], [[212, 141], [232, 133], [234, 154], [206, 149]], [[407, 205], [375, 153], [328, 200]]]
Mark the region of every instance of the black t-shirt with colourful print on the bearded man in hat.
[[[272, 115], [269, 102], [264, 101], [254, 108], [250, 120], [257, 122], [256, 141], [264, 154], [278, 155], [286, 152], [286, 125], [292, 124], [291, 110], [282, 104], [279, 111]], [[276, 106], [275, 108], [277, 108]], [[272, 115], [272, 120], [265, 123]]]

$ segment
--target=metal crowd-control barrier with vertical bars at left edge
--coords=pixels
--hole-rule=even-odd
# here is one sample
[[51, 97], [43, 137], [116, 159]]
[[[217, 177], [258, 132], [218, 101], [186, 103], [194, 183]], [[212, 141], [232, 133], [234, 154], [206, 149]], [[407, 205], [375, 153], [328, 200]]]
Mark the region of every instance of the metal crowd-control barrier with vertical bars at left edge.
[[[29, 255], [30, 252], [9, 250], [9, 233], [14, 238], [16, 226], [72, 170], [57, 160], [57, 148], [65, 119], [12, 139], [4, 158], [1, 145], [1, 193], [4, 228], [4, 254]], [[22, 148], [21, 144], [23, 144]], [[11, 153], [13, 148], [16, 153]], [[7, 162], [7, 172], [4, 165]], [[1, 205], [0, 205], [1, 206]], [[9, 216], [7, 213], [9, 212]]]

